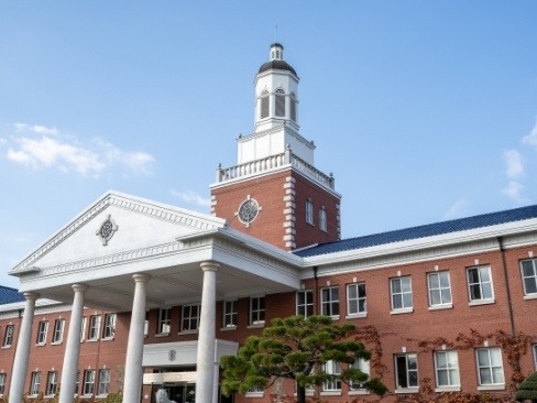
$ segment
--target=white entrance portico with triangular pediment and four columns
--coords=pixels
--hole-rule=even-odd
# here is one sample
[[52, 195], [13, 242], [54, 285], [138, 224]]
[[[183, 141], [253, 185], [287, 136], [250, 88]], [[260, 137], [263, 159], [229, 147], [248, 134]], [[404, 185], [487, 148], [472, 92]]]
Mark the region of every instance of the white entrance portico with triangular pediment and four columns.
[[[10, 401], [21, 401], [24, 392], [28, 327], [40, 295], [73, 304], [62, 368], [63, 403], [73, 401], [84, 306], [131, 313], [123, 402], [136, 403], [143, 367], [155, 351], [161, 357], [169, 350], [144, 346], [146, 309], [201, 299], [198, 339], [179, 346], [186, 350], [177, 362], [196, 355], [196, 401], [215, 402], [218, 359], [237, 349], [216, 339], [216, 302], [298, 290], [300, 264], [299, 258], [238, 232], [222, 219], [107, 193], [11, 271], [26, 296], [26, 328], [19, 338], [13, 373], [20, 381], [12, 382]], [[177, 345], [174, 351], [182, 353]]]

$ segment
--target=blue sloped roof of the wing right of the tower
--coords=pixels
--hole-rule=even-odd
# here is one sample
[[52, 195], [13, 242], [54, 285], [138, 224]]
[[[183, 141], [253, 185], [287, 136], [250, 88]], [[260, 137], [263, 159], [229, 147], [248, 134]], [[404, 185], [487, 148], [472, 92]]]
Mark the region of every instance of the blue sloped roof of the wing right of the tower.
[[306, 258], [318, 254], [342, 252], [353, 249], [375, 247], [379, 244], [407, 241], [442, 233], [464, 231], [474, 228], [490, 227], [498, 224], [520, 221], [537, 218], [537, 205], [515, 208], [512, 210], [483, 214], [480, 216], [459, 218], [450, 221], [428, 224], [419, 227], [399, 229], [395, 231], [374, 233], [370, 236], [343, 239], [335, 242], [319, 243], [308, 249], [297, 250], [294, 253]]

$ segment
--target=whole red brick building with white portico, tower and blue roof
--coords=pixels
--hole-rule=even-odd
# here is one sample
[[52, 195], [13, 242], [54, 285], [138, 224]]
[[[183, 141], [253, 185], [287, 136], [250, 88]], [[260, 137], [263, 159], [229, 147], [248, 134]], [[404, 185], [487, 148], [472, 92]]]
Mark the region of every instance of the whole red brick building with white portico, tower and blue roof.
[[[0, 394], [61, 402], [271, 402], [276, 382], [219, 393], [221, 356], [274, 317], [350, 320], [394, 395], [505, 393], [503, 340], [537, 341], [537, 206], [340, 240], [335, 178], [299, 133], [298, 76], [273, 44], [255, 78], [255, 128], [210, 185], [211, 215], [110, 192], [11, 270], [0, 290]], [[366, 330], [366, 331], [365, 331]], [[459, 335], [465, 338], [458, 338]], [[520, 370], [536, 369], [537, 348]], [[339, 371], [337, 362], [327, 370]], [[360, 384], [310, 391], [331, 402]]]

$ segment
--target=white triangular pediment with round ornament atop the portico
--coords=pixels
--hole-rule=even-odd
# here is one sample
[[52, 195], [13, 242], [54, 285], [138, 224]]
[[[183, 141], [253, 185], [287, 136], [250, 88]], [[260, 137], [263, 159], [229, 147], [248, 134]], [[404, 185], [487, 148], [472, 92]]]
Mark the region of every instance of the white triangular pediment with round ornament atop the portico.
[[143, 250], [224, 225], [223, 219], [213, 216], [109, 192], [30, 253], [10, 274]]

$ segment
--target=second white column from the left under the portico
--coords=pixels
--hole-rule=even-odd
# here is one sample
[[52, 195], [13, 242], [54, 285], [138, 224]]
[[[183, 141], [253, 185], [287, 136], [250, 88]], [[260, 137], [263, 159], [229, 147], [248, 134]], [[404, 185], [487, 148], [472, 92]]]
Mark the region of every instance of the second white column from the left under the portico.
[[80, 329], [84, 313], [84, 294], [88, 286], [73, 284], [75, 297], [70, 313], [69, 330], [65, 345], [64, 366], [62, 367], [62, 389], [59, 390], [59, 403], [73, 403], [75, 395], [76, 377], [78, 371], [78, 357], [80, 355]]

